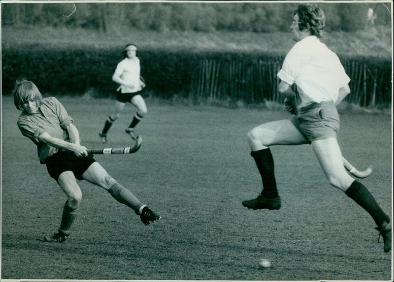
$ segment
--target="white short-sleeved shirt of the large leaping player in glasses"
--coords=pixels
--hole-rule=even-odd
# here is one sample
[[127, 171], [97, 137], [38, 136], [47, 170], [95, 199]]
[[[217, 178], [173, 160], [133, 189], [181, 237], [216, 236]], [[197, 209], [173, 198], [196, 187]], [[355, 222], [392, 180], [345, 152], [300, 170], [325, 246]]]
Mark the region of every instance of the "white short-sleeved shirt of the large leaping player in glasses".
[[277, 76], [297, 85], [300, 107], [322, 101], [335, 103], [339, 89], [350, 82], [338, 56], [314, 35], [293, 46]]

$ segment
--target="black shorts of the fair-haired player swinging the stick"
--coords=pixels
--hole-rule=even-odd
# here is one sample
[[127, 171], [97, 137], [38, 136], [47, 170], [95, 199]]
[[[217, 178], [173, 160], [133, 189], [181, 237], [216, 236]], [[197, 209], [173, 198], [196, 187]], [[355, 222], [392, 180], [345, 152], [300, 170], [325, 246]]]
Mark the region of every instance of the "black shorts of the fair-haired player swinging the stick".
[[78, 158], [73, 152], [58, 151], [45, 160], [46, 169], [56, 181], [59, 175], [65, 171], [72, 171], [75, 178], [83, 180], [82, 174], [88, 169], [96, 160], [91, 156]]

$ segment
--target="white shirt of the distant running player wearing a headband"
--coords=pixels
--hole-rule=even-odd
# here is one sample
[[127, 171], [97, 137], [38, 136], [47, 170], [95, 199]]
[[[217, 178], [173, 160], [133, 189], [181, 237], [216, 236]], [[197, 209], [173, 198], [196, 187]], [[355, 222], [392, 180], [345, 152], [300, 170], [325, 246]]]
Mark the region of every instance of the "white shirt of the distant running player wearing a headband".
[[139, 59], [137, 57], [133, 58], [132, 60], [124, 58], [118, 63], [115, 73], [120, 74], [120, 77], [123, 80], [134, 85], [133, 88], [121, 85], [121, 93], [134, 93], [142, 90], [140, 84], [140, 72], [141, 67], [139, 64]]

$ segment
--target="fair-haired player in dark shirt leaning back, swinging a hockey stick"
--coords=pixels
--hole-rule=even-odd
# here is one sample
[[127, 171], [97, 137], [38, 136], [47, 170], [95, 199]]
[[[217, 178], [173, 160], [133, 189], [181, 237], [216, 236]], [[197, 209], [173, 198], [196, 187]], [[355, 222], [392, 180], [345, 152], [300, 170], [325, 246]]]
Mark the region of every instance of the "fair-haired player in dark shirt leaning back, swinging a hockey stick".
[[18, 127], [22, 135], [37, 146], [38, 158], [48, 173], [67, 196], [58, 232], [44, 237], [44, 241], [64, 242], [71, 233], [82, 192], [76, 179], [86, 180], [108, 191], [119, 202], [129, 206], [145, 225], [159, 220], [130, 190], [117, 182], [80, 144], [79, 132], [73, 119], [55, 98], [42, 98], [33, 82], [17, 80], [13, 89], [14, 104], [22, 113]]

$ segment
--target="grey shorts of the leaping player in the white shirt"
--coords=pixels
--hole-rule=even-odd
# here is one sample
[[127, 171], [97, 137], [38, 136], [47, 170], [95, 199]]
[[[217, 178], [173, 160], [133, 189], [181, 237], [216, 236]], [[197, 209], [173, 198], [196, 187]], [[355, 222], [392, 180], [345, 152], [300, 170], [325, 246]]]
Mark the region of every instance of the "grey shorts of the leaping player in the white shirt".
[[331, 101], [303, 107], [291, 121], [308, 143], [330, 137], [336, 138], [339, 130], [339, 114]]

